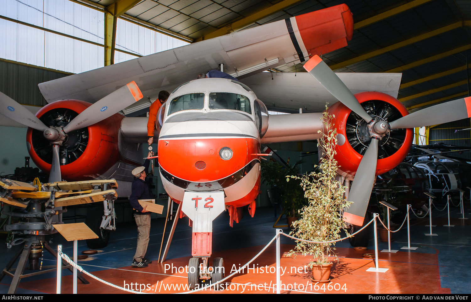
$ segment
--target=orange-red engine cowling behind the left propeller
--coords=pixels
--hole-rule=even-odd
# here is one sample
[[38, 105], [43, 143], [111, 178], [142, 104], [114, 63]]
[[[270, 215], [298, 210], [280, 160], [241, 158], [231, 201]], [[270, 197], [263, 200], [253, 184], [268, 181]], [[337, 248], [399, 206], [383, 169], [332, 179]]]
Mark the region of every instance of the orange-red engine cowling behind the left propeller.
[[[65, 127], [75, 116], [91, 106], [77, 100], [55, 101], [41, 108], [36, 116], [47, 126]], [[70, 181], [97, 178], [120, 158], [118, 132], [123, 116], [115, 114], [105, 120], [68, 133], [59, 151], [61, 174]], [[52, 146], [41, 131], [28, 128], [28, 152], [32, 161], [49, 173]]]

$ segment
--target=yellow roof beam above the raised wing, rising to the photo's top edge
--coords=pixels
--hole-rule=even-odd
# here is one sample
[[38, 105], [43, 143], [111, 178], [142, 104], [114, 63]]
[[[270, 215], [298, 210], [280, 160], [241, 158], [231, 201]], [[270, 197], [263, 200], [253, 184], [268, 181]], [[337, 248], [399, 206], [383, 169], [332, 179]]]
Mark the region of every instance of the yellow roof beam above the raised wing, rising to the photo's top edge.
[[276, 4], [273, 4], [273, 5], [269, 6], [268, 8], [264, 8], [264, 9], [254, 13], [252, 15], [248, 15], [248, 16], [246, 16], [242, 19], [239, 19], [239, 20], [237, 20], [233, 23], [227, 24], [226, 26], [224, 26], [222, 28], [219, 28], [215, 31], [212, 31], [212, 32], [210, 32], [206, 35], [203, 35], [201, 38], [196, 39], [195, 42], [227, 35], [228, 33], [231, 33], [235, 30], [241, 29], [244, 26], [247, 26], [247, 25], [250, 25], [254, 22], [257, 22], [257, 21], [259, 21], [263, 18], [268, 17], [269, 15], [273, 15], [273, 14], [279, 12], [280, 10], [283, 10], [285, 8], [289, 8], [289, 7], [295, 5], [299, 2], [302, 2], [302, 1], [304, 1], [304, 0], [283, 0], [283, 1], [280, 1]]

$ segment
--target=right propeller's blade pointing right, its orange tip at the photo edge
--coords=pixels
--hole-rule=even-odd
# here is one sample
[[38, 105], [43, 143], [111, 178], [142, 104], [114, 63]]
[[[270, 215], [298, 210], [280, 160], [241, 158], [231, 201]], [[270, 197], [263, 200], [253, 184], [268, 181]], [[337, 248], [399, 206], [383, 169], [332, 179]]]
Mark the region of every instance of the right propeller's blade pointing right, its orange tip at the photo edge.
[[471, 97], [438, 104], [398, 118], [391, 129], [415, 128], [443, 124], [471, 117]]

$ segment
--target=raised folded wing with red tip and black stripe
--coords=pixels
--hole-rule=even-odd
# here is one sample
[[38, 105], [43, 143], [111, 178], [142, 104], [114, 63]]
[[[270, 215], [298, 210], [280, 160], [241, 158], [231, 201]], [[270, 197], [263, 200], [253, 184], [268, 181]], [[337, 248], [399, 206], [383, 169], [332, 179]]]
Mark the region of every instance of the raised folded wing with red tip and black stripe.
[[200, 73], [218, 69], [220, 63], [225, 72], [243, 78], [346, 46], [352, 33], [351, 12], [342, 4], [59, 78], [39, 88], [48, 102], [93, 103], [135, 81], [144, 99], [156, 99], [160, 90], [171, 92]]

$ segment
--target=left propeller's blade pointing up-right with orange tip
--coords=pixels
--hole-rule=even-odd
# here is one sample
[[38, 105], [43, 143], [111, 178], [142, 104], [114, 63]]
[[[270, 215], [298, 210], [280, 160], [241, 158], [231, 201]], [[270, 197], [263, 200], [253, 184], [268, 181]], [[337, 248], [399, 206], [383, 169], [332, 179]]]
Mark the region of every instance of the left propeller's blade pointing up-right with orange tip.
[[136, 82], [132, 81], [83, 110], [64, 127], [64, 132], [69, 133], [96, 124], [140, 99], [142, 99], [142, 93]]

